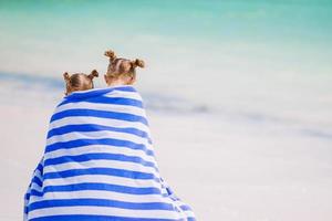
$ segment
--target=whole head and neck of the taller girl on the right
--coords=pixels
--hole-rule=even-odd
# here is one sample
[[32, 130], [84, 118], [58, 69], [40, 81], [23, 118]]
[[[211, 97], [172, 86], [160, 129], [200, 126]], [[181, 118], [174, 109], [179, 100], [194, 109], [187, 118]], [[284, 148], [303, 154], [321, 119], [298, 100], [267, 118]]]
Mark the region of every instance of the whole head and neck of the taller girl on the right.
[[136, 67], [144, 67], [142, 60], [127, 60], [116, 57], [113, 51], [106, 51], [105, 56], [110, 57], [107, 73], [105, 74], [105, 82], [108, 86], [115, 84], [134, 84], [136, 81]]

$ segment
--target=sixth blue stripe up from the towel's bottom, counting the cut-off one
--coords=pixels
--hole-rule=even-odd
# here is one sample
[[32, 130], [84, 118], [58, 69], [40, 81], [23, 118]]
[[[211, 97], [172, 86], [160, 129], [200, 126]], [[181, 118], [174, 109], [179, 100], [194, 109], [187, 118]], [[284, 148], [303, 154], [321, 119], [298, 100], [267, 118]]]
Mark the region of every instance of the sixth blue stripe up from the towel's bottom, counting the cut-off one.
[[122, 139], [112, 139], [112, 138], [103, 138], [103, 139], [75, 139], [70, 141], [59, 141], [52, 145], [46, 146], [45, 152], [51, 152], [58, 149], [71, 149], [76, 147], [83, 147], [89, 145], [108, 145], [116, 146], [122, 148], [131, 148], [143, 150], [148, 156], [154, 156], [153, 150], [147, 149], [145, 145], [136, 144], [128, 140]]

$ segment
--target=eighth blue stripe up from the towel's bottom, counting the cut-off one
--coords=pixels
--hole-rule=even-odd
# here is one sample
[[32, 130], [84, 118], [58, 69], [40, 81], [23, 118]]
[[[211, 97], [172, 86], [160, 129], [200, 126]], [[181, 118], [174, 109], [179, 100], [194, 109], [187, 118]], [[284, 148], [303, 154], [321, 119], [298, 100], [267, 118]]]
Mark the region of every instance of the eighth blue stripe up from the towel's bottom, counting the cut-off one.
[[63, 112], [59, 112], [52, 116], [51, 123], [65, 117], [80, 117], [80, 116], [118, 119], [118, 120], [126, 120], [126, 122], [139, 122], [144, 125], [148, 125], [146, 118], [138, 115], [120, 113], [120, 112], [98, 110], [98, 109], [84, 109], [84, 108], [66, 109]]

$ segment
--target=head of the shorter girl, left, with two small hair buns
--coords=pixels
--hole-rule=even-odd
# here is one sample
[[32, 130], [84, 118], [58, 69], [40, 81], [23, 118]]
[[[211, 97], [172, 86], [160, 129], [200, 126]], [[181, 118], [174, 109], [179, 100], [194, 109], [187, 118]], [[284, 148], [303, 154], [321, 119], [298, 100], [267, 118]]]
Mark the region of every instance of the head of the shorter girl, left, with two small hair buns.
[[77, 73], [77, 74], [72, 74], [70, 76], [69, 73], [65, 72], [63, 74], [65, 87], [66, 87], [65, 95], [69, 95], [72, 92], [92, 90], [93, 78], [95, 76], [98, 76], [96, 70], [93, 70], [89, 75], [83, 73]]

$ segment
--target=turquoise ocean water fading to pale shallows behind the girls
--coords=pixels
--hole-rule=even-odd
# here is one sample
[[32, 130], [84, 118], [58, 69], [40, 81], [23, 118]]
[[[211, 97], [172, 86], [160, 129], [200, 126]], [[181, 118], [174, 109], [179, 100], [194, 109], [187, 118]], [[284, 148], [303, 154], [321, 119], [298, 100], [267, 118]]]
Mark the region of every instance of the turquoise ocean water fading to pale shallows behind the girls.
[[151, 94], [326, 130], [331, 20], [324, 0], [1, 1], [0, 77], [59, 85], [64, 71], [105, 72], [113, 49], [146, 61]]

